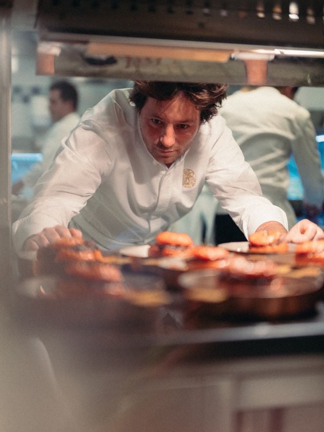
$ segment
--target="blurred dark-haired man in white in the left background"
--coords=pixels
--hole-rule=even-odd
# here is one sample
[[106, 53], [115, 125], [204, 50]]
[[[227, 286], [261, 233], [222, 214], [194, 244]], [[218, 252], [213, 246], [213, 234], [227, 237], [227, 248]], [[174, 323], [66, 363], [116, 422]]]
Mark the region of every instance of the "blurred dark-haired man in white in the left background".
[[52, 163], [61, 139], [68, 135], [80, 120], [77, 113], [78, 92], [68, 81], [56, 81], [50, 86], [48, 107], [53, 125], [46, 133], [41, 146], [42, 161], [33, 165], [22, 179], [12, 185], [13, 195], [18, 195], [24, 187], [35, 186]]

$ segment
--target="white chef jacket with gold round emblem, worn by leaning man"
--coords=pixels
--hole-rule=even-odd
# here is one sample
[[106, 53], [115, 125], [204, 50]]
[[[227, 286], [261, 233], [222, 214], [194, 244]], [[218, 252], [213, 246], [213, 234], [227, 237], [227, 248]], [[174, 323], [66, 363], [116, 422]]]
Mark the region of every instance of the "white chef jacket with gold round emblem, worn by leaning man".
[[260, 196], [223, 118], [203, 124], [167, 168], [148, 152], [128, 97], [129, 89], [113, 90], [62, 143], [35, 198], [13, 224], [16, 250], [44, 227], [69, 223], [106, 249], [151, 243], [191, 209], [205, 180], [244, 233], [269, 220], [287, 226], [284, 212]]

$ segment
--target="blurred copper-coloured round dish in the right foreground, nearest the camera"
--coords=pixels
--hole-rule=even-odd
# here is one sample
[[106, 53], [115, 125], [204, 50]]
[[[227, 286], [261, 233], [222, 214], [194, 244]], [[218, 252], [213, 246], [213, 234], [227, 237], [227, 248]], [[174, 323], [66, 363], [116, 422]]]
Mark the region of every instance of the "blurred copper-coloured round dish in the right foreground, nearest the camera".
[[194, 302], [207, 314], [231, 318], [277, 319], [309, 313], [323, 286], [322, 272], [267, 280], [228, 279], [220, 271], [208, 270], [183, 273], [178, 280], [189, 304]]

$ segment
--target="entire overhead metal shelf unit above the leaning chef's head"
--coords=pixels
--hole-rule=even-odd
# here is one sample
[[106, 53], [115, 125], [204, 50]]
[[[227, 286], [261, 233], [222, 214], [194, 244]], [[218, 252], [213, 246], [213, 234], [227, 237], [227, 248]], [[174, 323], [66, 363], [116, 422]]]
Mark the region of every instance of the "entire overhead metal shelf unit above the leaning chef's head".
[[48, 0], [37, 28], [39, 74], [324, 85], [321, 1]]

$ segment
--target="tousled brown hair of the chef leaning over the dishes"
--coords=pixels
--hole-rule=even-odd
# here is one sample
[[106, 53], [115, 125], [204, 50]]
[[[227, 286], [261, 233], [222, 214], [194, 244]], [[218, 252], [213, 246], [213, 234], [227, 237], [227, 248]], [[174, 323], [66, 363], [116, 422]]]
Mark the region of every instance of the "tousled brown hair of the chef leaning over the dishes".
[[148, 97], [170, 100], [183, 93], [200, 111], [201, 123], [205, 123], [217, 115], [218, 108], [221, 108], [226, 98], [227, 88], [227, 84], [205, 82], [135, 81], [129, 100], [141, 111]]

